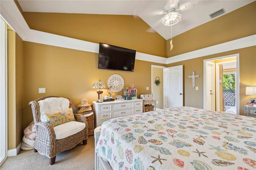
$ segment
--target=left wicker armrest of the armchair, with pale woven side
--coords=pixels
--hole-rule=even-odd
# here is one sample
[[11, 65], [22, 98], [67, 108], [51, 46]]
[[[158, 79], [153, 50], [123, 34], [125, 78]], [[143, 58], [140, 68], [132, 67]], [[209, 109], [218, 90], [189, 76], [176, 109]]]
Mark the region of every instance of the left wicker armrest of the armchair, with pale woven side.
[[[36, 125], [36, 138], [40, 141], [46, 142], [49, 145], [54, 145], [56, 140], [56, 134], [50, 123], [38, 122]], [[46, 135], [48, 134], [48, 135]]]

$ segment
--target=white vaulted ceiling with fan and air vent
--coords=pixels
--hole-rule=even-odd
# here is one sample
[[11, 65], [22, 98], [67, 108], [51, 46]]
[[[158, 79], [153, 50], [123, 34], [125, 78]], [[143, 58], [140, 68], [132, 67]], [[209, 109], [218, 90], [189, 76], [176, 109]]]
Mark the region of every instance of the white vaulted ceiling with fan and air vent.
[[[18, 0], [24, 12], [54, 12], [79, 14], [133, 15], [149, 25], [148, 32], [157, 32], [164, 39], [171, 38], [170, 26], [162, 24], [166, 4], [179, 4], [178, 24], [172, 26], [177, 36], [213, 19], [210, 14], [224, 9], [225, 15], [254, 0]], [[217, 16], [216, 18], [218, 18]]]

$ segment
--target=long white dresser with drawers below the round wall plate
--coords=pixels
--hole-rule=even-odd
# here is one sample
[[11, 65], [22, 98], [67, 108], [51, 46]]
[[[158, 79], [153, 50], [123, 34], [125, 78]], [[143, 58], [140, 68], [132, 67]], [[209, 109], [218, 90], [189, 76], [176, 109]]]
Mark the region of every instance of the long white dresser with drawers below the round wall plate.
[[142, 113], [143, 111], [142, 99], [115, 100], [102, 103], [93, 101], [92, 103], [96, 127], [101, 126], [104, 121], [114, 117], [133, 115], [136, 113]]

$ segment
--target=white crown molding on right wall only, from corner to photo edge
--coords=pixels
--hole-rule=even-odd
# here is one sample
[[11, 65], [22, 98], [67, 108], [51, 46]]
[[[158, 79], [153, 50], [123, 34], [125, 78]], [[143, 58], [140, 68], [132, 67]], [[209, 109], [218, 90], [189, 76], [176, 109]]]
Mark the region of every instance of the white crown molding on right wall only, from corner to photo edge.
[[169, 57], [167, 59], [167, 64], [176, 63], [179, 61], [184, 61], [187, 59], [194, 59], [198, 57], [203, 57], [206, 55], [212, 55], [216, 53], [222, 53], [225, 51], [231, 51], [234, 49], [240, 49], [245, 47], [251, 47], [256, 45], [256, 35], [240, 38], [237, 40], [233, 40], [230, 42], [221, 43], [218, 45], [213, 45], [211, 47], [206, 47], [202, 49], [198, 49], [196, 51], [191, 51], [188, 53], [176, 55], [174, 57]]

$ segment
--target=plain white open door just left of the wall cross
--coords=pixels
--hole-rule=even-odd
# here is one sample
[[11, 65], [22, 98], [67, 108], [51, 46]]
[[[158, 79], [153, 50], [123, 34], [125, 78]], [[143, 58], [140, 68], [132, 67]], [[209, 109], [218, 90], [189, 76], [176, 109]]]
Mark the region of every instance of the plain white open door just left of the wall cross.
[[183, 65], [164, 69], [164, 108], [183, 106]]

